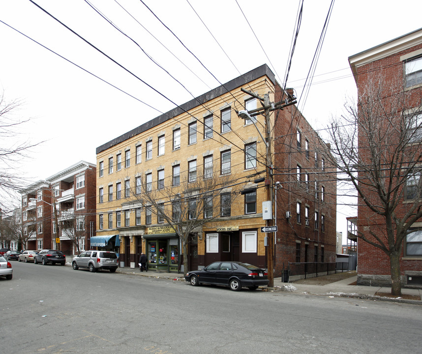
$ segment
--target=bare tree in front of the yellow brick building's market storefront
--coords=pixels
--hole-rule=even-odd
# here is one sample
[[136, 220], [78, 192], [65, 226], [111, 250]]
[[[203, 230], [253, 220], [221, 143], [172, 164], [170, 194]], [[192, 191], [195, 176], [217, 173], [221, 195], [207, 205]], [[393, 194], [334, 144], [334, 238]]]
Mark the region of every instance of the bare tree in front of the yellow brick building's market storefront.
[[152, 180], [147, 178], [134, 190], [134, 195], [147, 214], [156, 215], [159, 222], [167, 223], [180, 237], [186, 274], [189, 269], [188, 243], [192, 236], [201, 233], [206, 224], [212, 227], [216, 218], [229, 216], [244, 184], [244, 178], [239, 182], [233, 175], [217, 176], [212, 169], [201, 171], [195, 168], [174, 175], [171, 180], [157, 180], [154, 187]]

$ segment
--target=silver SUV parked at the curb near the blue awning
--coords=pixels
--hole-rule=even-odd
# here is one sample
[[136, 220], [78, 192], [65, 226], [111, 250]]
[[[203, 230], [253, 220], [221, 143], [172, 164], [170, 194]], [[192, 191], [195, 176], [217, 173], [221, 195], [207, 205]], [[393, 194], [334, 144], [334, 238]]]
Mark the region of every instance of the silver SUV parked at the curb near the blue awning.
[[99, 269], [108, 269], [114, 273], [118, 267], [119, 259], [115, 252], [111, 251], [85, 251], [72, 260], [72, 267], [75, 270], [88, 268], [90, 272]]

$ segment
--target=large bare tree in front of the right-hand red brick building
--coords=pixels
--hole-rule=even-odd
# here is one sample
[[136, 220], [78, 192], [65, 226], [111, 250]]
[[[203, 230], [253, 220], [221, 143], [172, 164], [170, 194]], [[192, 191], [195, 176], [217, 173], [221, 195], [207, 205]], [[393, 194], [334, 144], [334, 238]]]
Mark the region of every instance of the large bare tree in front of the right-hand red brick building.
[[346, 103], [346, 113], [329, 126], [331, 162], [358, 193], [358, 237], [388, 256], [392, 295], [401, 295], [403, 241], [422, 217], [418, 100], [403, 90], [401, 79], [386, 84], [371, 74], [358, 102]]

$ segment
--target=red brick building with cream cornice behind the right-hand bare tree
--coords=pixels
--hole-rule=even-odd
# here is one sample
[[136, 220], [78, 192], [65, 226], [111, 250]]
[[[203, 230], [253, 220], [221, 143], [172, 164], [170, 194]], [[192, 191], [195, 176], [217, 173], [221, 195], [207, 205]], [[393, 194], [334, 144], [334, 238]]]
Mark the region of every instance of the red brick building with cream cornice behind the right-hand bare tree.
[[[397, 87], [397, 78], [400, 79], [398, 92], [407, 95], [407, 110], [400, 112], [401, 117], [412, 114], [420, 119], [421, 113], [415, 112], [421, 107], [422, 96], [422, 29], [415, 30], [386, 43], [365, 50], [349, 57], [349, 63], [358, 87], [358, 96], [361, 97], [370, 80], [382, 77], [385, 85], [384, 97], [391, 97], [392, 87]], [[391, 100], [386, 102], [390, 105]], [[388, 111], [390, 106], [385, 106]], [[419, 117], [419, 118], [418, 118]], [[397, 125], [398, 126], [398, 125]], [[414, 149], [420, 149], [420, 144], [413, 144]], [[405, 188], [410, 191], [412, 179], [409, 178]], [[415, 198], [403, 189], [401, 201], [395, 210], [397, 215], [404, 215], [413, 206]], [[370, 196], [369, 196], [370, 197]], [[412, 201], [413, 199], [413, 201]], [[362, 202], [358, 205], [357, 229], [359, 234], [368, 235], [372, 230], [382, 237], [385, 233], [384, 218], [371, 214], [368, 223], [368, 208]], [[400, 278], [405, 286], [422, 285], [422, 234], [419, 228], [422, 222], [415, 222], [412, 228], [415, 231], [407, 235], [403, 241], [400, 254]], [[355, 237], [357, 238], [357, 237]], [[391, 286], [391, 269], [389, 257], [378, 248], [362, 241], [358, 241], [358, 284], [373, 286]]]

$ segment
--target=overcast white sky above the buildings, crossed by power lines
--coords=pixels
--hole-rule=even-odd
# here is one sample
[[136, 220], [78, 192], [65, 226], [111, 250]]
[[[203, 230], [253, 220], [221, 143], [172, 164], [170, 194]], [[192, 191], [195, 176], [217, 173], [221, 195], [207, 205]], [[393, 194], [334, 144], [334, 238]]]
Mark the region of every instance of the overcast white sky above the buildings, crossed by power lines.
[[[264, 63], [280, 82], [284, 81], [300, 1], [143, 1], [218, 81], [140, 0], [34, 2], [177, 104]], [[304, 1], [287, 85], [298, 97], [330, 3]], [[130, 38], [107, 23], [90, 4]], [[328, 119], [341, 112], [345, 97], [356, 94], [348, 57], [419, 29], [421, 10], [420, 0], [334, 2], [312, 85], [307, 99], [302, 96], [299, 104], [314, 129], [324, 129]], [[7, 101], [22, 101], [22, 118], [33, 118], [19, 139], [45, 141], [20, 166], [19, 173], [33, 181], [80, 160], [95, 163], [95, 148], [174, 107], [29, 0], [1, 0], [0, 21], [133, 96], [0, 22], [0, 92]], [[187, 90], [154, 64], [134, 41]], [[345, 217], [355, 211], [341, 206], [337, 209], [337, 231], [345, 235]]]

